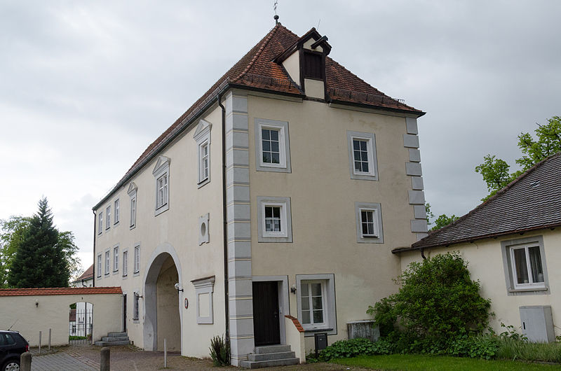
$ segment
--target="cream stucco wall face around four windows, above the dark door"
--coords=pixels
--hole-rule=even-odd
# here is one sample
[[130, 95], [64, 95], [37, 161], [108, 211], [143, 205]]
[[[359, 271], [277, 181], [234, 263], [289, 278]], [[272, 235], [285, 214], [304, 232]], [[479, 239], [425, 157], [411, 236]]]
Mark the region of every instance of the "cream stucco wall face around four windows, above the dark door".
[[[366, 310], [396, 290], [391, 279], [400, 260], [391, 253], [416, 241], [407, 199], [411, 178], [403, 146], [405, 118], [334, 109], [320, 102], [288, 102], [248, 96], [250, 139], [255, 118], [288, 121], [291, 173], [258, 172], [250, 140], [250, 200], [253, 276], [334, 274], [337, 335], [347, 337], [346, 323], [369, 318]], [[351, 179], [347, 130], [374, 133], [379, 181]], [[257, 197], [290, 197], [292, 243], [258, 243]], [[355, 202], [381, 204], [384, 243], [358, 243]], [[298, 317], [297, 295], [289, 294], [290, 314]], [[306, 332], [306, 349], [313, 348]]]

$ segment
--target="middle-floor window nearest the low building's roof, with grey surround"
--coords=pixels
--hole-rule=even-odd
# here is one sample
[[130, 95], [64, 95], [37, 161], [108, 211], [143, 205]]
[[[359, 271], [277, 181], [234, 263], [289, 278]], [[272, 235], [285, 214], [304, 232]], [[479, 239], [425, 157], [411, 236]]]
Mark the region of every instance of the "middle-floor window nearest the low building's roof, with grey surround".
[[365, 244], [382, 244], [381, 206], [372, 202], [355, 202], [356, 241]]

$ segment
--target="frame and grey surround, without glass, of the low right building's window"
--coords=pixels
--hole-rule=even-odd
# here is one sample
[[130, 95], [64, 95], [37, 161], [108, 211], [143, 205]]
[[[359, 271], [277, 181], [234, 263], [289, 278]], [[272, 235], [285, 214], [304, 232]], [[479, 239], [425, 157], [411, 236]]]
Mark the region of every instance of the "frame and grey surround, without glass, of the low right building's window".
[[[539, 255], [541, 259], [541, 269], [543, 271], [543, 282], [536, 283], [517, 283], [516, 267], [514, 260], [514, 250], [517, 248], [539, 247]], [[508, 239], [501, 241], [501, 251], [503, 255], [503, 267], [505, 274], [505, 282], [507, 295], [543, 295], [549, 294], [548, 269], [546, 265], [546, 253], [543, 247], [542, 236], [530, 236], [520, 239]], [[529, 257], [526, 255], [526, 262], [529, 265]], [[529, 279], [532, 279], [532, 267], [528, 266]]]

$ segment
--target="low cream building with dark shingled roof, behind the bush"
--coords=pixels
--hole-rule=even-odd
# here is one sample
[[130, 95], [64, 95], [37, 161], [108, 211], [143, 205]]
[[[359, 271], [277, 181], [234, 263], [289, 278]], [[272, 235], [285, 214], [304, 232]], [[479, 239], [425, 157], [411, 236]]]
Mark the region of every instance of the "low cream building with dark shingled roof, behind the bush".
[[492, 300], [491, 325], [519, 327], [533, 341], [561, 335], [561, 153], [536, 164], [487, 202], [407, 248], [402, 269], [424, 256], [459, 251]]

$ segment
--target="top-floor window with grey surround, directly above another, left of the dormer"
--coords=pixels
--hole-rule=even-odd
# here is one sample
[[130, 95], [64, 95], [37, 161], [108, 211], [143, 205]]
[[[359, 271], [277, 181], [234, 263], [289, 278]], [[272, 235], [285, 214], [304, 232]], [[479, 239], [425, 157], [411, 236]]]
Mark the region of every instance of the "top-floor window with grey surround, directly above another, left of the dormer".
[[255, 119], [257, 171], [291, 172], [288, 123]]

